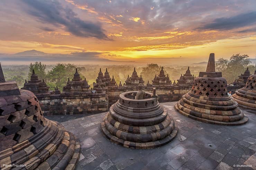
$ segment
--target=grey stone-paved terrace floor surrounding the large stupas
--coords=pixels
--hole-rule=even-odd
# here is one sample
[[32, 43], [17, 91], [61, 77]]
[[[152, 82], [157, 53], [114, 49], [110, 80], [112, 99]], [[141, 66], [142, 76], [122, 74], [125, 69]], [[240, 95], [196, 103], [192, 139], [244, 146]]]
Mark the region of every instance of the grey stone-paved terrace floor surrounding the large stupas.
[[[256, 117], [254, 111], [243, 110], [248, 122], [241, 126], [220, 126], [203, 123], [177, 113], [176, 102], [161, 103], [168, 109], [177, 137], [169, 144], [155, 149], [129, 149], [107, 140], [101, 132], [100, 113], [72, 119], [73, 115], [48, 116], [62, 122], [66, 130], [79, 140], [81, 153], [77, 170], [232, 170], [256, 169]], [[76, 115], [77, 116], [77, 115]], [[239, 168], [235, 165], [252, 165]]]

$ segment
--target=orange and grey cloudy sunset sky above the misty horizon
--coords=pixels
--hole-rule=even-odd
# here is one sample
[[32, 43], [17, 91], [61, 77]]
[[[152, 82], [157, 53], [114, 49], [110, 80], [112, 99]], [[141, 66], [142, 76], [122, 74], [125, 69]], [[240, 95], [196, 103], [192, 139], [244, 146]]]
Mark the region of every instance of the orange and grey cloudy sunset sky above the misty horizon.
[[138, 62], [200, 62], [211, 52], [254, 58], [255, 6], [255, 0], [4, 0], [0, 60], [33, 49]]

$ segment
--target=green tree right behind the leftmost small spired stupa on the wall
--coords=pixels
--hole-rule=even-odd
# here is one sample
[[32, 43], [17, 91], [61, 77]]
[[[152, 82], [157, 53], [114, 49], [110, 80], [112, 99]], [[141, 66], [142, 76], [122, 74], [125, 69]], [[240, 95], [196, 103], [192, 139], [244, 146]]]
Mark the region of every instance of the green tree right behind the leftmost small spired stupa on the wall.
[[46, 72], [45, 72], [46, 64], [42, 64], [41, 62], [35, 62], [34, 64], [29, 64], [29, 71], [28, 71], [28, 79], [30, 79], [30, 76], [33, 72], [33, 69], [35, 70], [35, 73], [37, 74], [39, 79], [46, 79]]

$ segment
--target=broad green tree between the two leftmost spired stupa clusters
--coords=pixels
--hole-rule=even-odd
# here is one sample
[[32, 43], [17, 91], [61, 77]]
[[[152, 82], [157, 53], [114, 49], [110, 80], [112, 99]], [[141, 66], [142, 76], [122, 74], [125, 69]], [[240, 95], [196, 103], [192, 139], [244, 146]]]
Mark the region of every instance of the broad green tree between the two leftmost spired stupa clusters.
[[[53, 82], [60, 90], [66, 85], [67, 79], [70, 80], [74, 77], [76, 66], [74, 64], [58, 63], [47, 73], [47, 80]], [[80, 68], [77, 68], [80, 71]], [[80, 77], [84, 77], [80, 74]]]

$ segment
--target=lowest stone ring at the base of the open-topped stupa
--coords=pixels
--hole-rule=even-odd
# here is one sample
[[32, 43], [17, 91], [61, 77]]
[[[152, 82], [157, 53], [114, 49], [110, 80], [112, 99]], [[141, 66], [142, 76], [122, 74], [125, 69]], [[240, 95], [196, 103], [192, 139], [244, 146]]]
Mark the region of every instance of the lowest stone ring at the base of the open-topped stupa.
[[[115, 135], [112, 134], [115, 132], [111, 133], [106, 128], [106, 126], [111, 126], [110, 122], [108, 121], [108, 114], [103, 118], [103, 120], [101, 122], [101, 129], [102, 129], [104, 136], [113, 143], [119, 144], [126, 148], [131, 148], [131, 149], [153, 149], [153, 148], [163, 146], [163, 145], [171, 142], [176, 137], [177, 132], [178, 132], [178, 128], [174, 127], [174, 121], [171, 118], [171, 123], [169, 126], [174, 127], [174, 129], [165, 138], [160, 139], [160, 140], [150, 141], [150, 142], [133, 142], [133, 141], [127, 141], [127, 140], [116, 137]], [[119, 133], [117, 131], [120, 131], [120, 130], [116, 129], [116, 133]], [[148, 134], [150, 134], [150, 133], [148, 133]], [[135, 133], [129, 133], [129, 135], [136, 136]]]

